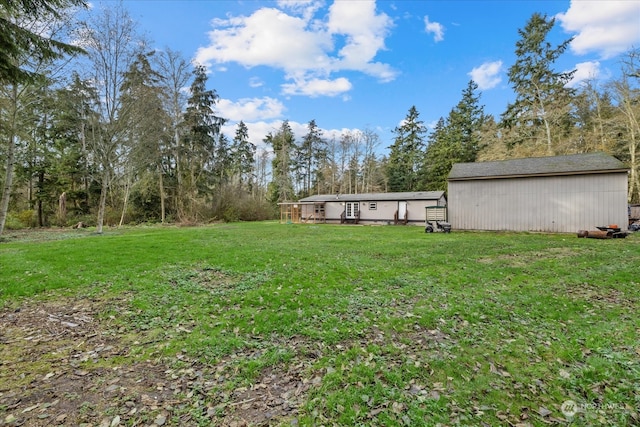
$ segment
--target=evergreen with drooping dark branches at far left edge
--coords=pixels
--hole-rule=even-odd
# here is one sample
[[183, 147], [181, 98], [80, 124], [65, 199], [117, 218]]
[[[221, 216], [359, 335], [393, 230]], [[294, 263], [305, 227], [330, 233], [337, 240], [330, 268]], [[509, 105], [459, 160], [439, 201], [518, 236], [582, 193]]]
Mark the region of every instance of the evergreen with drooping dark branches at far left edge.
[[[78, 0], [0, 0], [0, 153], [3, 156], [0, 195], [0, 236], [14, 191], [16, 162], [24, 154], [25, 135], [34, 133], [34, 121], [23, 112], [41, 89], [49, 90], [56, 59], [82, 50], [58, 39], [66, 27], [63, 18]], [[36, 97], [36, 99], [29, 99]]]

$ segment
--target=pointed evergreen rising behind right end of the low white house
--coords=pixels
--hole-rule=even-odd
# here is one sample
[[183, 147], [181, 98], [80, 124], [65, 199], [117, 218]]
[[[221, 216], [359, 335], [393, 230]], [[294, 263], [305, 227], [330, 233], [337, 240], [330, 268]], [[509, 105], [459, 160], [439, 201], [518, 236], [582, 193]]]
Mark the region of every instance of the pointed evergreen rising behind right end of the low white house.
[[419, 189], [419, 169], [424, 159], [424, 139], [427, 134], [419, 115], [416, 107], [412, 106], [402, 125], [394, 129], [396, 136], [389, 147], [387, 163], [389, 191]]

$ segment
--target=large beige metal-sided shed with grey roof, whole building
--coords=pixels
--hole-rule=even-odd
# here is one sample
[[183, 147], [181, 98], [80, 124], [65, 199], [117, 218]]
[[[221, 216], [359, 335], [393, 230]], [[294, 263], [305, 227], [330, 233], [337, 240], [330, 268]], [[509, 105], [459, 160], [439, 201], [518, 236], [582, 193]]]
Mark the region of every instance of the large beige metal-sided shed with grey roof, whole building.
[[626, 227], [628, 169], [605, 153], [456, 163], [448, 176], [452, 228], [577, 232]]

